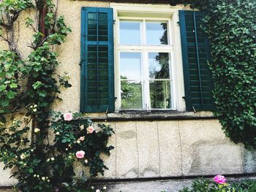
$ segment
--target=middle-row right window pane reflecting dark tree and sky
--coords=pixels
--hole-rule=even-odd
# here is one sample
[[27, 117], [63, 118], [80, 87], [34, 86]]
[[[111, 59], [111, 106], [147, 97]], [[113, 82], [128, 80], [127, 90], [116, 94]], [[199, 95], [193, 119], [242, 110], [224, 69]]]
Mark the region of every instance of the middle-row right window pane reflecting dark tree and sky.
[[169, 53], [148, 53], [149, 77], [151, 79], [169, 79]]

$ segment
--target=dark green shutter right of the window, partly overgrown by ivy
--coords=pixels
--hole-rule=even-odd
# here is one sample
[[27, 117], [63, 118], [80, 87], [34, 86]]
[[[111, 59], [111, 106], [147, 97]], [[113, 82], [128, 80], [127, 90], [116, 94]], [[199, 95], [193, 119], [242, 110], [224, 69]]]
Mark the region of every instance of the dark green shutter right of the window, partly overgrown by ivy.
[[207, 61], [210, 46], [203, 24], [203, 12], [179, 11], [187, 111], [214, 110], [213, 83]]

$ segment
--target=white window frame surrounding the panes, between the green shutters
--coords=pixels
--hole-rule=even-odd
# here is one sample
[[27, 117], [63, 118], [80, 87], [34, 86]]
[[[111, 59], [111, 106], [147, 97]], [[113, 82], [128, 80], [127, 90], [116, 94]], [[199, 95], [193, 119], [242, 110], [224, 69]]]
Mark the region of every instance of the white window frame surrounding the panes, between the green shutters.
[[[120, 80], [120, 52], [140, 52], [143, 54], [143, 63], [148, 64], [146, 53], [170, 53], [170, 83], [172, 83], [171, 96], [172, 108], [161, 110], [177, 110], [186, 111], [184, 97], [184, 78], [181, 56], [181, 37], [178, 22], [178, 10], [184, 7], [170, 7], [170, 5], [155, 5], [155, 4], [118, 4], [111, 3], [113, 8], [113, 17], [116, 21], [114, 25], [114, 61], [115, 61], [115, 96], [116, 111], [121, 109], [121, 80]], [[136, 13], [135, 15], [133, 13]], [[121, 16], [120, 16], [121, 15]], [[149, 21], [166, 21], [168, 31], [168, 45], [119, 45], [119, 21], [120, 20], [143, 20], [143, 27], [146, 28], [145, 20]], [[146, 30], [140, 30], [146, 31]], [[144, 37], [143, 35], [141, 37]], [[145, 39], [140, 41], [146, 42]], [[143, 52], [144, 50], [144, 52]], [[142, 65], [143, 67], [143, 65]], [[144, 66], [145, 67], [145, 66]], [[142, 73], [146, 73], [143, 70]], [[149, 82], [149, 81], [148, 81]], [[149, 88], [149, 86], [147, 86]], [[150, 94], [147, 88], [145, 96], [150, 101]], [[145, 102], [143, 101], [145, 104]], [[146, 106], [143, 106], [146, 108]], [[145, 110], [145, 109], [144, 109]], [[151, 110], [151, 109], [148, 109]], [[154, 109], [155, 110], [155, 109]]]

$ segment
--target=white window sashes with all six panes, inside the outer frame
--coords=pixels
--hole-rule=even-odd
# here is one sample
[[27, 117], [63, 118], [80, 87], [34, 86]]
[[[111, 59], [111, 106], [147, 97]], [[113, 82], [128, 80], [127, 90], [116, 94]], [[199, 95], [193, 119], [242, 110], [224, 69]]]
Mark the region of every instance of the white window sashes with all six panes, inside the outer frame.
[[174, 109], [170, 20], [118, 18], [121, 110]]

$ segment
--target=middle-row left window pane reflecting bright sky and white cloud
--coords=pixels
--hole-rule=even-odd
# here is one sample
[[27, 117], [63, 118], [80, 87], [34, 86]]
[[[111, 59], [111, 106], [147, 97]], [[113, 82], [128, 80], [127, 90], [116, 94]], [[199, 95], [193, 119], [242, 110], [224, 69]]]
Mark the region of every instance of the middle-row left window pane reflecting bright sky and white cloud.
[[140, 80], [140, 53], [120, 53], [121, 80]]

